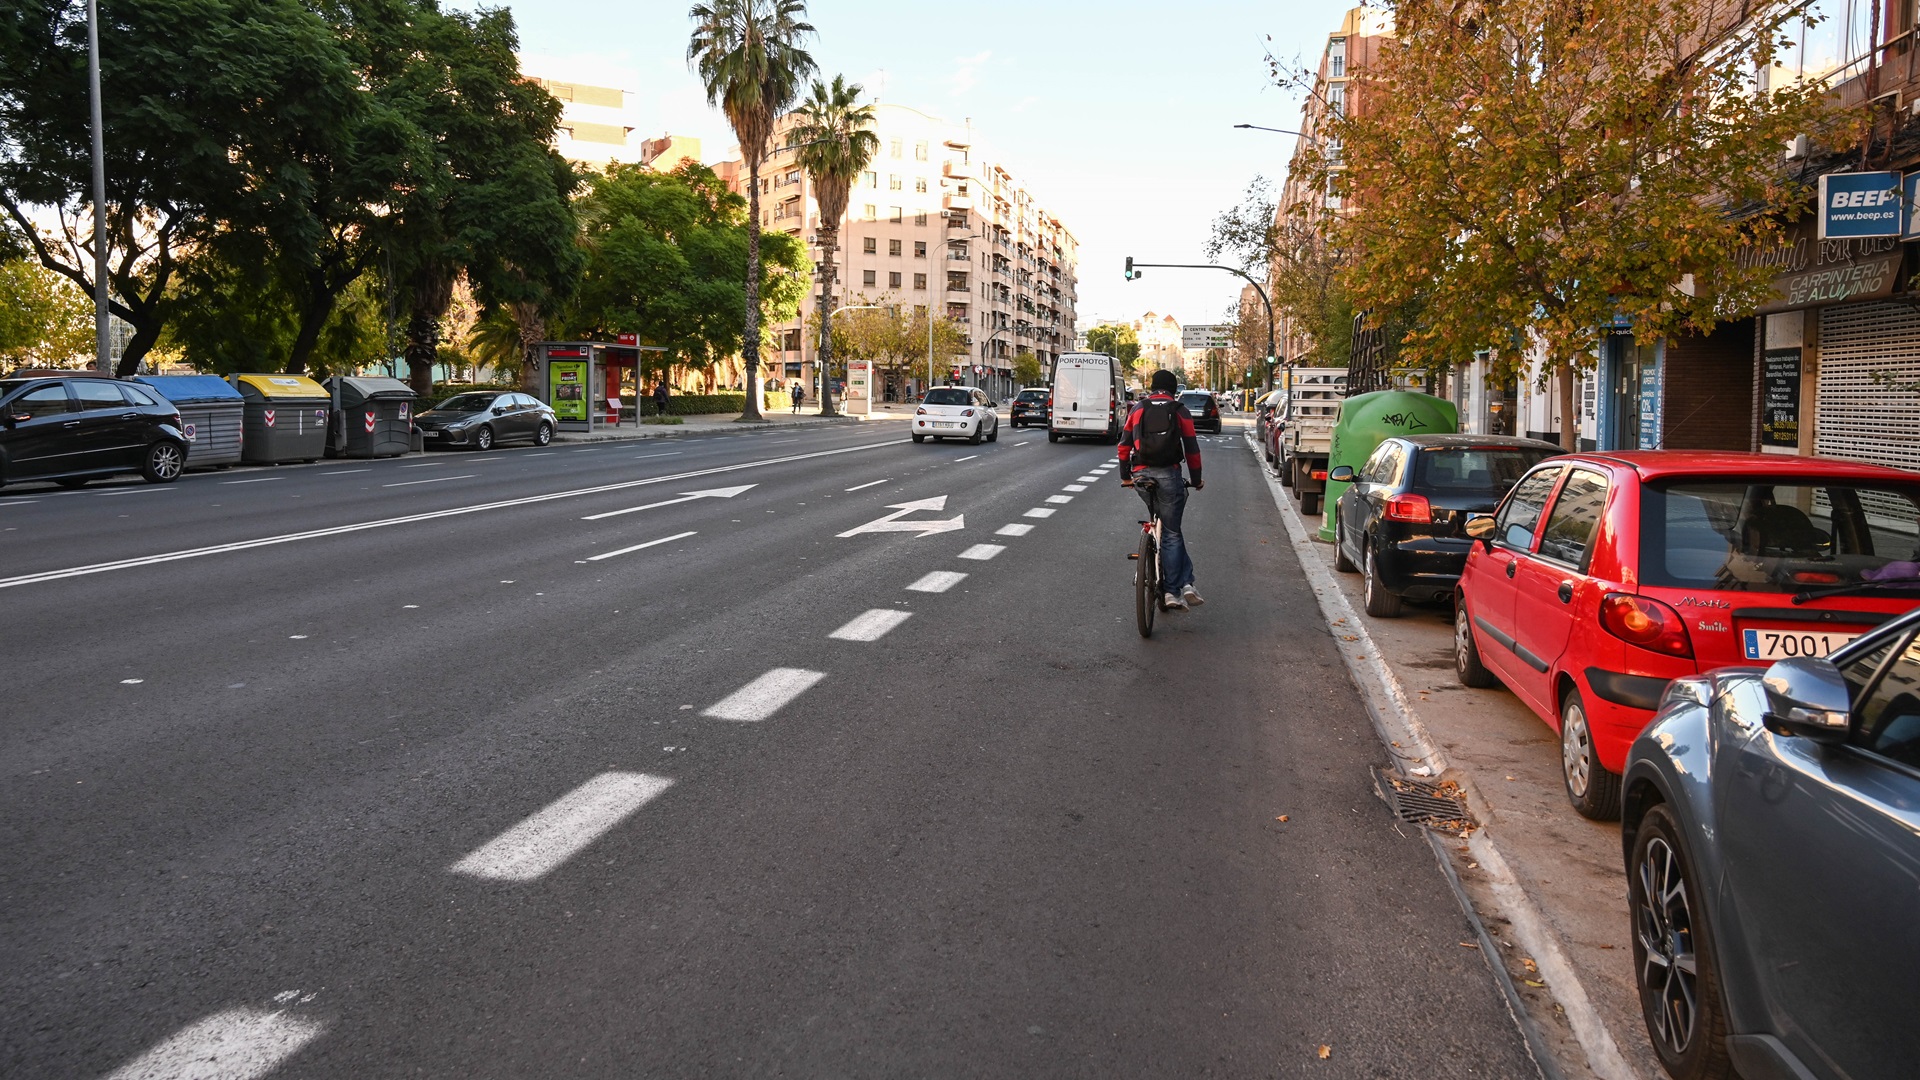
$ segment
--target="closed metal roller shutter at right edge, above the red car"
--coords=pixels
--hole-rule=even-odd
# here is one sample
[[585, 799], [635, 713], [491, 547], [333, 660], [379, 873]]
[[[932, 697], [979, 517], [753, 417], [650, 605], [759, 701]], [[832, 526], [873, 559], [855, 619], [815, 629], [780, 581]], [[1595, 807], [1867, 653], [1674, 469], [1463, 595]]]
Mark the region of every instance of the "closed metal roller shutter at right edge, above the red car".
[[1841, 304], [1820, 311], [1814, 454], [1920, 473], [1920, 306]]

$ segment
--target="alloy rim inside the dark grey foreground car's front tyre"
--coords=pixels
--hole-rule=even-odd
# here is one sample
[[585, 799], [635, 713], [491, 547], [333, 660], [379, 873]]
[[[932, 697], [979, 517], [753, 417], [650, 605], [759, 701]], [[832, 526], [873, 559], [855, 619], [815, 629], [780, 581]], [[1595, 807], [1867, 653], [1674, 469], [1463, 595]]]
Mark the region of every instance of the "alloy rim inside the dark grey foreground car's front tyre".
[[1640, 986], [1653, 1038], [1680, 1057], [1699, 1028], [1699, 961], [1693, 953], [1693, 907], [1688, 897], [1680, 853], [1653, 838], [1636, 869], [1640, 903], [1634, 932], [1645, 961]]

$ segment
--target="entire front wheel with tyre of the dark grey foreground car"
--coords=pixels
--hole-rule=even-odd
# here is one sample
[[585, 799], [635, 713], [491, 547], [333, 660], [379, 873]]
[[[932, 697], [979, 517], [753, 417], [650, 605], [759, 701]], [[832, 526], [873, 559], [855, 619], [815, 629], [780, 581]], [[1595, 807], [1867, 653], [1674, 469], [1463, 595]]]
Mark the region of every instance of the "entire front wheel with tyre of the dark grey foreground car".
[[1720, 967], [1695, 882], [1680, 822], [1665, 805], [1649, 809], [1626, 863], [1634, 984], [1653, 1051], [1680, 1080], [1732, 1074]]

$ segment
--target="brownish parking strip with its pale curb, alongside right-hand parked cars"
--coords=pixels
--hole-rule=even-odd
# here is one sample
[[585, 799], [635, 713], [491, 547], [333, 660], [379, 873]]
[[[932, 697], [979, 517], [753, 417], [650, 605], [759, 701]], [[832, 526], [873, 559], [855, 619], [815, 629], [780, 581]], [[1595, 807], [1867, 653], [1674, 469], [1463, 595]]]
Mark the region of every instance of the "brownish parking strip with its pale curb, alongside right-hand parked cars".
[[1480, 828], [1467, 842], [1442, 838], [1444, 846], [1501, 942], [1559, 1072], [1567, 1080], [1665, 1078], [1634, 988], [1619, 824], [1588, 821], [1567, 803], [1553, 728], [1507, 690], [1459, 684], [1450, 607], [1409, 603], [1400, 619], [1361, 615], [1359, 575], [1334, 573], [1332, 546], [1311, 540], [1321, 519], [1304, 519], [1271, 473], [1267, 482], [1334, 644], [1402, 769], [1465, 792]]

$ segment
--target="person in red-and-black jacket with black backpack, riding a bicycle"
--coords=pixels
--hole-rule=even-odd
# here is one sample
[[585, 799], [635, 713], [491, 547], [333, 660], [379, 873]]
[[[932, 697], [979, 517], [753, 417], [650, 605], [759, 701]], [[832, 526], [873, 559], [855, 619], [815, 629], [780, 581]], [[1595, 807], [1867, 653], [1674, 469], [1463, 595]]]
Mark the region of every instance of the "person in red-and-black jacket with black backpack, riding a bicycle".
[[1194, 417], [1175, 396], [1179, 380], [1171, 371], [1156, 371], [1150, 392], [1127, 413], [1127, 423], [1119, 429], [1119, 482], [1135, 486], [1139, 479], [1152, 479], [1152, 492], [1142, 492], [1160, 515], [1160, 584], [1165, 596], [1162, 607], [1187, 611], [1188, 605], [1206, 603], [1194, 590], [1194, 563], [1187, 555], [1187, 538], [1181, 534], [1181, 513], [1187, 509], [1187, 480], [1181, 479], [1181, 459], [1187, 459], [1187, 473], [1194, 490], [1206, 488], [1200, 479], [1200, 438], [1194, 434]]

